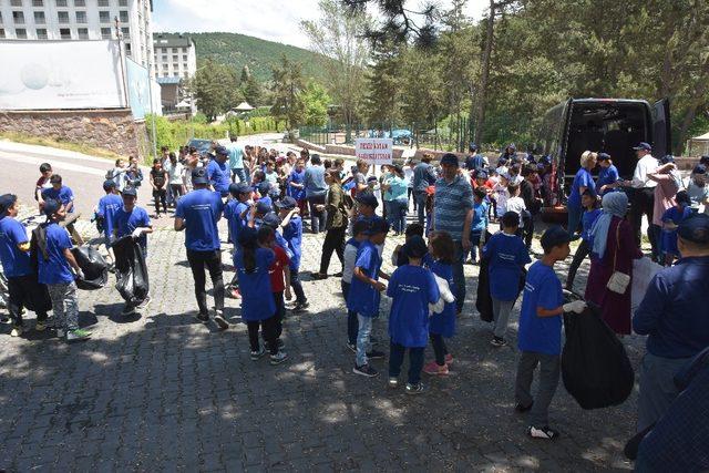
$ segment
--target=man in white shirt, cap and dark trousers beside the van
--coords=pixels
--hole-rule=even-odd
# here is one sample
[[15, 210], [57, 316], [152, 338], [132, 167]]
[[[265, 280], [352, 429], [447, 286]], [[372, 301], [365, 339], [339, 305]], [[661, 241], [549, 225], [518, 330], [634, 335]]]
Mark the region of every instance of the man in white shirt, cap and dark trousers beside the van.
[[633, 150], [635, 150], [638, 157], [638, 163], [635, 166], [635, 173], [633, 173], [633, 181], [626, 181], [624, 186], [633, 188], [633, 196], [630, 199], [630, 223], [633, 224], [633, 230], [635, 232], [635, 244], [638, 247], [640, 246], [640, 229], [643, 226], [643, 214], [645, 214], [648, 223], [647, 237], [650, 240], [650, 246], [653, 247], [653, 259], [657, 259], [657, 239], [659, 237], [660, 229], [657, 225], [653, 224], [655, 186], [657, 185], [657, 182], [650, 179], [647, 175], [654, 173], [659, 164], [653, 156], [653, 146], [650, 146], [649, 143], [641, 142]]

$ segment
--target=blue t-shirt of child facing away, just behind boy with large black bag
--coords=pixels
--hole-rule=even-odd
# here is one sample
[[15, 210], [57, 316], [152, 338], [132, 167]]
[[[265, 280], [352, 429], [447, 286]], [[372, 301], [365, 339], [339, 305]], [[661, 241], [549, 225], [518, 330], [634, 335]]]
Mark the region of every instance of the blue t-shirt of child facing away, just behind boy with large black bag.
[[490, 295], [499, 300], [514, 300], [520, 289], [522, 267], [532, 261], [524, 240], [516, 235], [497, 232], [483, 247], [490, 258]]

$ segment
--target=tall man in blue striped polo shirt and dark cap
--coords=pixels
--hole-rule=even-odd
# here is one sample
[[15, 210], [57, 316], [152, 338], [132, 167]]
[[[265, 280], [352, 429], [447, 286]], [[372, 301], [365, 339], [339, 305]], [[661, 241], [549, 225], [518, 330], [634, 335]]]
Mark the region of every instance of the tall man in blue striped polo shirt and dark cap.
[[463, 311], [465, 302], [465, 275], [463, 258], [470, 250], [470, 225], [473, 219], [473, 188], [470, 179], [460, 173], [458, 156], [452, 153], [441, 158], [442, 177], [435, 182], [435, 200], [431, 228], [448, 232], [455, 244], [453, 280], [455, 281], [455, 307]]

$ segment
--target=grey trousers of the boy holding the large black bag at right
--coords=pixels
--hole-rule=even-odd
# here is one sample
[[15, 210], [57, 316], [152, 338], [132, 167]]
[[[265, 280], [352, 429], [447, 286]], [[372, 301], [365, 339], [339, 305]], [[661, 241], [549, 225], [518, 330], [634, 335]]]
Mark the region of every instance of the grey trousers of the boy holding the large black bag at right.
[[[536, 398], [532, 397], [532, 380], [534, 370], [540, 364], [540, 385]], [[549, 424], [549, 404], [558, 385], [561, 371], [561, 357], [558, 354], [537, 353], [523, 351], [517, 363], [517, 379], [514, 387], [514, 397], [517, 403], [530, 405], [530, 425], [543, 428]]]

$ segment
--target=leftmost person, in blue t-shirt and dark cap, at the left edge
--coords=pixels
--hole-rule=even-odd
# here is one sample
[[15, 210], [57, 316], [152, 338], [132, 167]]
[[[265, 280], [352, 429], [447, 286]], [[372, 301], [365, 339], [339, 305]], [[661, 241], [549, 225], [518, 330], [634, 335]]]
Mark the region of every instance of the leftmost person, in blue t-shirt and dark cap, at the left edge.
[[8, 310], [12, 319], [10, 336], [19, 337], [24, 330], [22, 307], [32, 307], [37, 312], [39, 331], [44, 330], [47, 310], [51, 306], [47, 288], [37, 281], [37, 274], [30, 264], [30, 240], [24, 225], [16, 220], [18, 196], [0, 196], [0, 263], [8, 278]]

